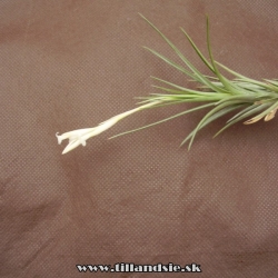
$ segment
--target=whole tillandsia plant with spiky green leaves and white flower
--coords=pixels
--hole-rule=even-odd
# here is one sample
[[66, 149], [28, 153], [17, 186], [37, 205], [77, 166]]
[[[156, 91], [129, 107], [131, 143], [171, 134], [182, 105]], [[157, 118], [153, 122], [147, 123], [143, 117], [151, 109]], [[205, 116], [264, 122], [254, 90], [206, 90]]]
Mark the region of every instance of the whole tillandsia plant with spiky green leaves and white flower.
[[[161, 86], [155, 86], [161, 92], [160, 93], [151, 93], [148, 97], [140, 98], [142, 101], [139, 102], [139, 107], [129, 110], [127, 112], [120, 113], [118, 116], [112, 117], [111, 119], [101, 122], [99, 126], [95, 128], [87, 129], [78, 129], [70, 132], [66, 132], [61, 136], [56, 135], [58, 138], [58, 143], [61, 143], [62, 140], [69, 139], [68, 146], [64, 148], [62, 153], [67, 153], [70, 150], [75, 149], [79, 145], [86, 146], [86, 140], [101, 133], [102, 131], [109, 129], [119, 120], [130, 116], [137, 111], [141, 111], [149, 108], [161, 107], [167, 105], [177, 105], [181, 102], [197, 102], [201, 103], [195, 108], [182, 111], [178, 115], [173, 115], [167, 119], [162, 119], [160, 121], [150, 123], [148, 126], [133, 129], [130, 131], [122, 132], [120, 135], [116, 135], [111, 138], [116, 138], [118, 136], [122, 136], [126, 133], [130, 133], [143, 128], [148, 128], [163, 121], [180, 117], [182, 115], [193, 112], [197, 110], [211, 108], [209, 112], [205, 115], [205, 117], [200, 120], [197, 127], [187, 136], [187, 138], [181, 142], [181, 145], [189, 141], [188, 149], [190, 149], [193, 139], [199, 130], [205, 128], [208, 123], [221, 118], [225, 115], [228, 115], [232, 111], [236, 111], [235, 115], [226, 122], [222, 129], [220, 129], [215, 136], [222, 132], [225, 129], [229, 128], [234, 123], [245, 120], [245, 125], [250, 125], [257, 122], [260, 119], [265, 119], [265, 121], [269, 121], [275, 117], [275, 113], [278, 109], [278, 80], [264, 80], [258, 81], [251, 78], [239, 75], [224, 64], [215, 61], [210, 47], [209, 39], [209, 20], [207, 17], [207, 47], [209, 53], [209, 60], [205, 58], [201, 51], [197, 48], [192, 39], [188, 36], [188, 33], [181, 28], [182, 33], [195, 49], [196, 53], [202, 60], [202, 62], [208, 67], [211, 71], [212, 76], [202, 75], [198, 71], [193, 64], [181, 53], [181, 51], [157, 28], [155, 27], [148, 19], [146, 19], [142, 14], [140, 14], [160, 36], [161, 38], [170, 46], [170, 48], [176, 52], [179, 57], [181, 64], [178, 64], [165, 56], [158, 53], [157, 51], [145, 47], [145, 49], [149, 50], [151, 53], [163, 60], [169, 66], [173, 67], [178, 71], [185, 73], [191, 80], [197, 81], [200, 87], [199, 89], [192, 90], [182, 86], [178, 86], [171, 83], [169, 81], [153, 78], [159, 81]], [[220, 70], [226, 70], [231, 73], [235, 79], [229, 80]]]

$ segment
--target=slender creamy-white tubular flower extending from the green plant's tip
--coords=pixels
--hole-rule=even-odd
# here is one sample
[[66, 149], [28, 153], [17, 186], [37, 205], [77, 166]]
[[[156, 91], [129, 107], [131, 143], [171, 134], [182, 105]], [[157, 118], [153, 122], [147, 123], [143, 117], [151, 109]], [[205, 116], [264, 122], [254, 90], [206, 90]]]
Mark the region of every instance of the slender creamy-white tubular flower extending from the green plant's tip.
[[127, 112], [117, 115], [117, 116], [110, 118], [109, 120], [106, 120], [106, 121], [99, 123], [99, 126], [97, 126], [95, 128], [77, 129], [77, 130], [73, 130], [73, 131], [62, 133], [61, 136], [59, 136], [58, 132], [57, 132], [56, 137], [58, 139], [59, 145], [62, 142], [62, 140], [69, 139], [69, 143], [63, 149], [62, 155], [73, 150], [79, 145], [86, 146], [86, 140], [88, 140], [89, 138], [106, 131], [107, 129], [111, 128], [115, 123], [117, 123], [119, 120], [126, 118], [127, 116], [129, 116], [131, 113], [135, 113], [137, 111], [143, 110], [146, 108], [149, 108], [151, 106], [158, 105], [158, 103], [160, 103], [160, 101], [153, 101], [153, 102], [147, 103], [145, 106], [140, 106], [138, 108], [135, 108], [132, 110], [129, 110]]

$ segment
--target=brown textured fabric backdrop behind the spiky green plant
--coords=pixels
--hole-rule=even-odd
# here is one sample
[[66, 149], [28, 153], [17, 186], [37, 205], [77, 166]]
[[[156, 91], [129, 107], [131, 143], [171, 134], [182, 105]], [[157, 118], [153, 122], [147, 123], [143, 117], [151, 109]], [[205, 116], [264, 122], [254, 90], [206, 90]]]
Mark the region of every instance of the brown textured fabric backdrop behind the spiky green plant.
[[[199, 69], [179, 27], [252, 78], [277, 78], [276, 0], [0, 2], [0, 277], [191, 277], [79, 274], [77, 264], [201, 265], [198, 277], [278, 277], [277, 119], [225, 119], [179, 148], [202, 112], [109, 136], [188, 106], [123, 120], [64, 156], [54, 133], [95, 127], [153, 91], [150, 76], [190, 86], [143, 50], [176, 59], [143, 13]], [[206, 71], [205, 71], [206, 72]]]

